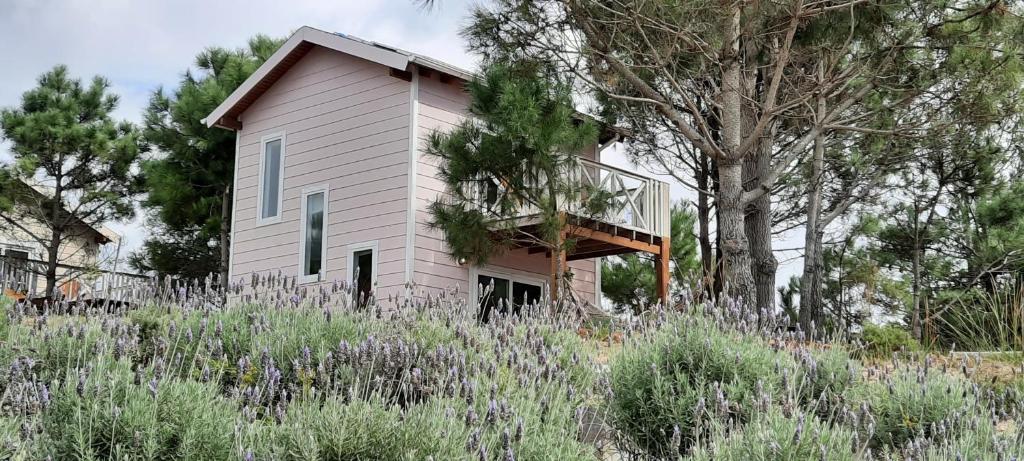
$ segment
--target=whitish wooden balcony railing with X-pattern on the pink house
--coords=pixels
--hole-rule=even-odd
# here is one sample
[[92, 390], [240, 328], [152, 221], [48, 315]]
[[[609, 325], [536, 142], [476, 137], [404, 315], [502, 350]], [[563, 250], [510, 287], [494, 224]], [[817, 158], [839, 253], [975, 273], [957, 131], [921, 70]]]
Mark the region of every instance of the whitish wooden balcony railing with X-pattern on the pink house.
[[[667, 182], [584, 158], [578, 158], [566, 174], [580, 185], [574, 203], [566, 207], [568, 213], [650, 236], [670, 236]], [[467, 196], [481, 209], [489, 209], [506, 193], [504, 185], [497, 181], [474, 183], [472, 187]], [[592, 200], [601, 201], [602, 206], [588, 206]], [[537, 213], [532, 206], [521, 206], [516, 210], [516, 217]]]

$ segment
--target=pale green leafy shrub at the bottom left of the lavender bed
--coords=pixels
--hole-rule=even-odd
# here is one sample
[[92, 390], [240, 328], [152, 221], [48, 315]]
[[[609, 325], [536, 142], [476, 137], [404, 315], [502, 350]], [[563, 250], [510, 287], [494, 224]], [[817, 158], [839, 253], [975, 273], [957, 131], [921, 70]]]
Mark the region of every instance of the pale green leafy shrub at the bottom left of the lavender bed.
[[43, 449], [54, 459], [231, 457], [238, 411], [216, 387], [177, 378], [134, 384], [124, 361], [90, 365], [66, 377], [43, 415]]

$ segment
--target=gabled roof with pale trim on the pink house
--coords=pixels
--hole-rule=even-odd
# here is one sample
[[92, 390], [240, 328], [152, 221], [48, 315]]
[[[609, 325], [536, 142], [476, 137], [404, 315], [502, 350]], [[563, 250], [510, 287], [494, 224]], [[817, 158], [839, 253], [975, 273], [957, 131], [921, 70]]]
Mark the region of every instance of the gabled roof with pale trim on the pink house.
[[288, 38], [281, 48], [270, 58], [263, 62], [253, 75], [249, 76], [230, 95], [203, 119], [206, 126], [218, 126], [230, 130], [242, 127], [239, 116], [249, 109], [267, 89], [288, 72], [302, 56], [305, 56], [314, 46], [350, 54], [356, 57], [377, 62], [391, 69], [408, 71], [412, 65], [419, 65], [442, 74], [447, 74], [464, 81], [472, 80], [473, 73], [437, 59], [403, 51], [380, 43], [362, 40], [345, 34], [330, 32], [303, 26]]

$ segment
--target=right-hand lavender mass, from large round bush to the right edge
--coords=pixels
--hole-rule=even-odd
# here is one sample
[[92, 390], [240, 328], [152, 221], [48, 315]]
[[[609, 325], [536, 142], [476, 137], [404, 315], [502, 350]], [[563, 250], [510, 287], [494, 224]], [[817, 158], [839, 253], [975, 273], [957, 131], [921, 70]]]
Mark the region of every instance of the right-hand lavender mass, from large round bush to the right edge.
[[637, 321], [610, 364], [620, 450], [638, 459], [1010, 460], [1012, 389], [984, 391], [930, 359], [861, 367], [724, 300]]

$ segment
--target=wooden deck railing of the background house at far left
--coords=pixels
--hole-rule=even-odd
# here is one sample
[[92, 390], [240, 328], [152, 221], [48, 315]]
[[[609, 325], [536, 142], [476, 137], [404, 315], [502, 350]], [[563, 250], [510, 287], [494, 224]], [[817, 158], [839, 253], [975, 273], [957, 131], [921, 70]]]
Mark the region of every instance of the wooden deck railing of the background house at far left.
[[[37, 298], [44, 296], [46, 261], [0, 256], [0, 296]], [[131, 290], [147, 276], [57, 264], [57, 290], [68, 301], [126, 300]]]

